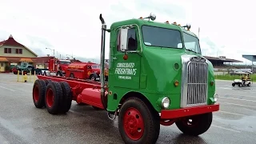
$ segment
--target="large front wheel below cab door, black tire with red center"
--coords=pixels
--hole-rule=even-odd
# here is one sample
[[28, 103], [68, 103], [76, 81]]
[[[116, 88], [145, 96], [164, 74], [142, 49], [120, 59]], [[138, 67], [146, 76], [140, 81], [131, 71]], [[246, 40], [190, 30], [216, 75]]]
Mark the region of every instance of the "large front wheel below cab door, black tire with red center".
[[[133, 113], [130, 113], [130, 112], [133, 112]], [[141, 126], [139, 126], [138, 123], [137, 125], [136, 124], [134, 125], [134, 126], [138, 126], [136, 130], [134, 130], [135, 132], [138, 132], [139, 129], [142, 130], [142, 133], [138, 132], [138, 135], [141, 134], [141, 136], [140, 137], [138, 136], [138, 138], [136, 139], [130, 138], [126, 133], [126, 130], [125, 130], [126, 128], [124, 126], [124, 123], [127, 122], [126, 120], [129, 120], [127, 118], [126, 113], [127, 115], [128, 114], [133, 115], [133, 116], [130, 115], [128, 117], [130, 117], [130, 119], [133, 119], [135, 123], [137, 123], [140, 120], [143, 123]], [[143, 102], [141, 99], [128, 98], [126, 102], [124, 102], [124, 104], [122, 105], [120, 113], [118, 115], [118, 128], [119, 128], [119, 132], [121, 134], [122, 140], [125, 143], [133, 143], [133, 144], [157, 142], [159, 131], [160, 131], [159, 119], [160, 119], [159, 115], [157, 116], [155, 112], [151, 109], [151, 107], [147, 106], [146, 103]], [[134, 124], [134, 122], [132, 123]]]

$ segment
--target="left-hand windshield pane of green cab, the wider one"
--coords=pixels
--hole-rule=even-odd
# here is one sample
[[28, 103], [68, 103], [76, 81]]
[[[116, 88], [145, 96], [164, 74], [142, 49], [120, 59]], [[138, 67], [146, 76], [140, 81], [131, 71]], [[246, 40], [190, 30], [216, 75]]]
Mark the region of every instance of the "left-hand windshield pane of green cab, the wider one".
[[182, 49], [182, 47], [178, 47], [178, 43], [182, 43], [182, 36], [178, 30], [142, 26], [142, 36], [146, 46]]

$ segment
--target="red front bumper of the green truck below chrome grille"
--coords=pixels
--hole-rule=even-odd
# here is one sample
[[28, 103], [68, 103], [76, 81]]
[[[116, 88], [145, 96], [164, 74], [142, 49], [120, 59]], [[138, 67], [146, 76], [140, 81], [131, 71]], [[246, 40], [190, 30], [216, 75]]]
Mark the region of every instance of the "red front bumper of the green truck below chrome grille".
[[161, 119], [182, 118], [186, 116], [205, 114], [219, 110], [219, 104], [207, 106], [195, 106], [178, 110], [161, 110]]

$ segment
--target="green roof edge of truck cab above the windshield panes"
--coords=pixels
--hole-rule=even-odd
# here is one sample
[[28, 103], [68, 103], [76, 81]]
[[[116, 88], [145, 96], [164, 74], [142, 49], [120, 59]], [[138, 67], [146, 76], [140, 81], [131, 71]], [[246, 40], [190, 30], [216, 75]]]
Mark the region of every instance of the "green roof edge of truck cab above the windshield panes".
[[148, 19], [140, 19], [140, 18], [132, 18], [124, 21], [119, 21], [119, 22], [114, 22], [110, 26], [110, 29], [112, 30], [113, 28], [119, 27], [119, 26], [125, 26], [125, 25], [130, 25], [130, 24], [137, 24], [138, 26], [157, 26], [157, 27], [162, 27], [166, 29], [173, 29], [173, 30], [180, 30], [182, 32], [185, 32], [186, 34], [190, 34], [196, 38], [198, 36], [194, 34], [193, 32], [189, 30], [185, 30], [182, 26], [175, 25], [173, 23], [165, 23], [165, 22], [154, 22], [154, 21], [149, 21]]

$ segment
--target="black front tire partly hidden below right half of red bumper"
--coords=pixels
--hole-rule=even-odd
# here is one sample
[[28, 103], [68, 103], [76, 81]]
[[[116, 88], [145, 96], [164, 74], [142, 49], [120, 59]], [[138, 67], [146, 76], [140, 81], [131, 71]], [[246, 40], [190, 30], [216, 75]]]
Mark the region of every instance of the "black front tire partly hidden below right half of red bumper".
[[[192, 119], [192, 123], [189, 121], [190, 119]], [[198, 136], [210, 128], [212, 119], [212, 113], [198, 114], [184, 118], [181, 121], [175, 122], [175, 124], [184, 134]]]

